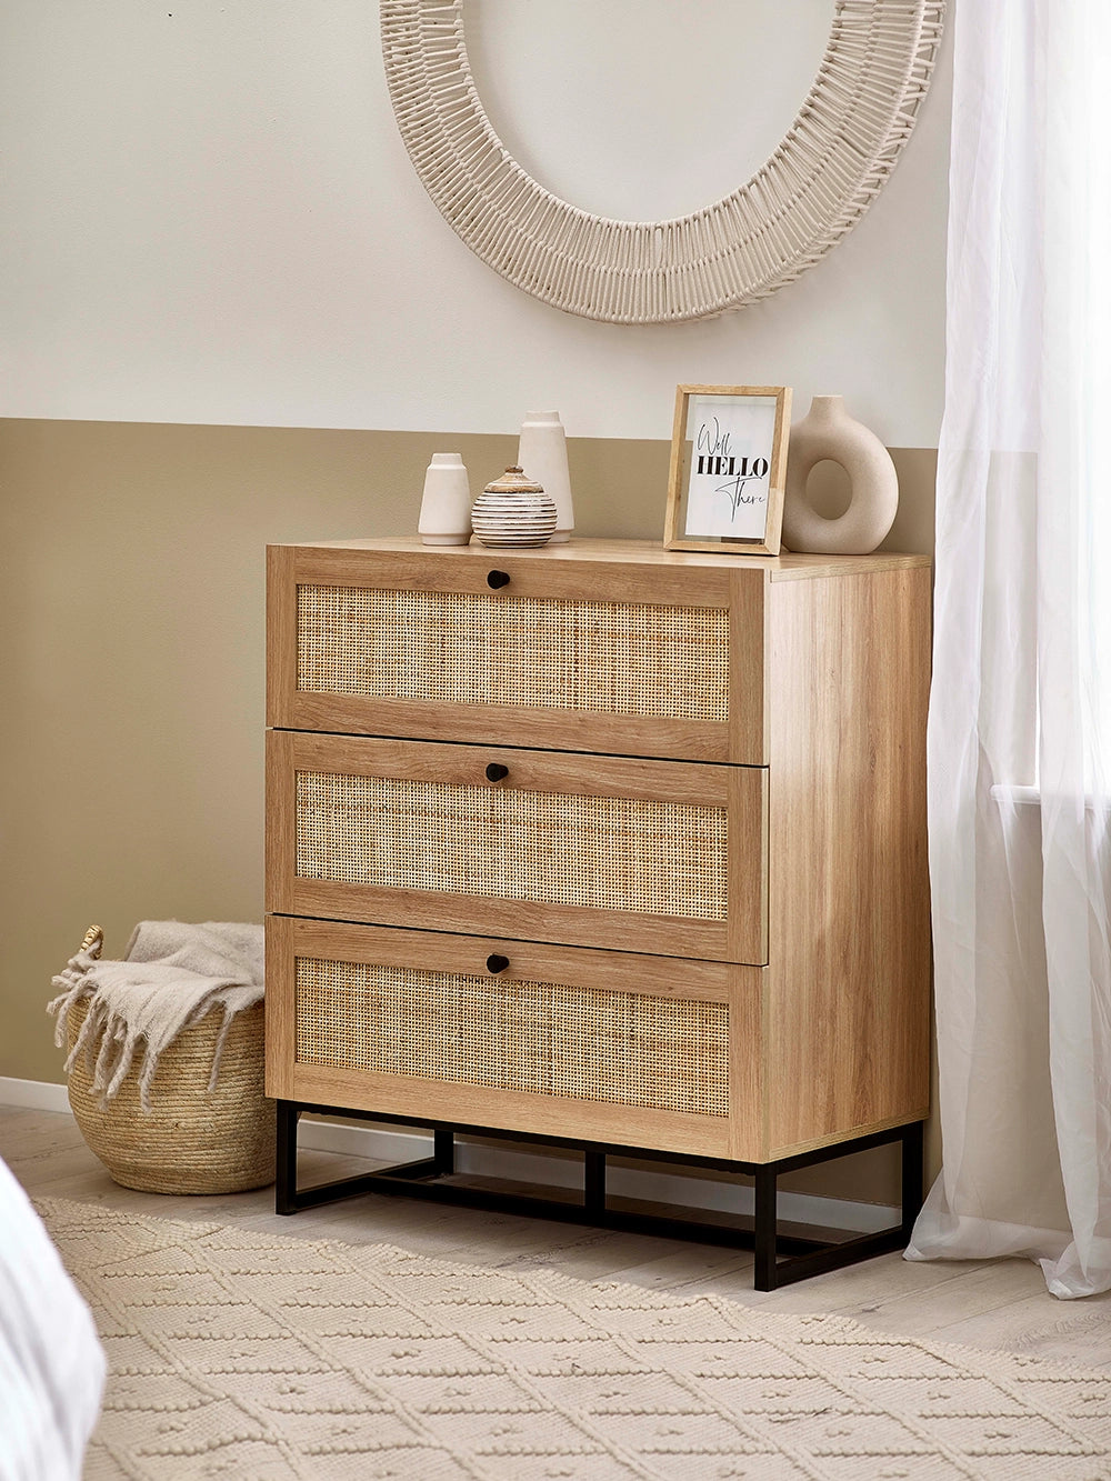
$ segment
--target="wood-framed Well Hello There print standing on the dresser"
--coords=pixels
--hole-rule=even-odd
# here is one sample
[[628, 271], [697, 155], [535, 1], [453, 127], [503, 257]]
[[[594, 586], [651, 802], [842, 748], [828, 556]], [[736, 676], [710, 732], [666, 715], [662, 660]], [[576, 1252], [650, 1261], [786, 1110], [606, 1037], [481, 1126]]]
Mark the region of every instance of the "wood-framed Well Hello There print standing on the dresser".
[[778, 555], [790, 385], [680, 385], [664, 545]]

